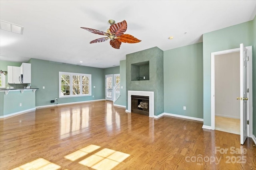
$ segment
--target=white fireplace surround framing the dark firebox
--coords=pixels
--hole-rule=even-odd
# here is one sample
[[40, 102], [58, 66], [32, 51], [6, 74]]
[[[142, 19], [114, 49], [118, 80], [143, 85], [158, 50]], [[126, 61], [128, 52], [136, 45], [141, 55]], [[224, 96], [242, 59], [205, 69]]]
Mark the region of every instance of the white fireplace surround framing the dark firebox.
[[[131, 91], [128, 90], [128, 107], [127, 112], [132, 111], [132, 96], [147, 96], [148, 97], [148, 116], [154, 117], [154, 92], [148, 92], [148, 91]], [[137, 105], [138, 107], [138, 105]]]

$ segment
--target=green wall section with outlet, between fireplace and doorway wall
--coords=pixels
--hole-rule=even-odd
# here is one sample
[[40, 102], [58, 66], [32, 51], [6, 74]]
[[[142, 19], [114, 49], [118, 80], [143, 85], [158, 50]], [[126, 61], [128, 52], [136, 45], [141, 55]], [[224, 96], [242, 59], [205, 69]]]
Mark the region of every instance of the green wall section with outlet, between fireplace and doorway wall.
[[164, 112], [203, 118], [203, 43], [164, 51]]

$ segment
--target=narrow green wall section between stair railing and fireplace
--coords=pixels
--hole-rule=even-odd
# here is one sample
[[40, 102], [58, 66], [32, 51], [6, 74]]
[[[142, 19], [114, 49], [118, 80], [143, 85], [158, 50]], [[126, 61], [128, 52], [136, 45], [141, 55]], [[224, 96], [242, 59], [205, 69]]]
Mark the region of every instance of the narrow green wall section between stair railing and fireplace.
[[122, 60], [120, 61], [120, 97], [114, 104], [126, 106], [126, 100], [126, 60]]

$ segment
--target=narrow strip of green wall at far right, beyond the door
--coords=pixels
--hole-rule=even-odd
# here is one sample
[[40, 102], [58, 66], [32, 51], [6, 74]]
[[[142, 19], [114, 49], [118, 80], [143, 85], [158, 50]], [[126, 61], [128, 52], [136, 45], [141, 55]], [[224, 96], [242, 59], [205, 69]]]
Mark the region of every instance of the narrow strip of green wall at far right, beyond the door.
[[252, 21], [252, 37], [253, 37], [253, 57], [252, 57], [252, 69], [253, 69], [253, 130], [252, 133], [256, 137], [256, 16]]

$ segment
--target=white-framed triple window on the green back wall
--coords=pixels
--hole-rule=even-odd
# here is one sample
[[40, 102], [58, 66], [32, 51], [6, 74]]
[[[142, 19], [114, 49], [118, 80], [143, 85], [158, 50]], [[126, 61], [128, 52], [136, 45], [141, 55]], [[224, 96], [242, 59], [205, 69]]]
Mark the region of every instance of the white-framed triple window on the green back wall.
[[91, 74], [59, 72], [59, 97], [91, 96]]

